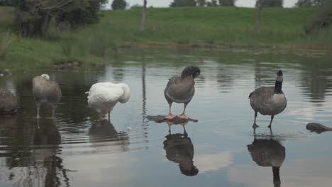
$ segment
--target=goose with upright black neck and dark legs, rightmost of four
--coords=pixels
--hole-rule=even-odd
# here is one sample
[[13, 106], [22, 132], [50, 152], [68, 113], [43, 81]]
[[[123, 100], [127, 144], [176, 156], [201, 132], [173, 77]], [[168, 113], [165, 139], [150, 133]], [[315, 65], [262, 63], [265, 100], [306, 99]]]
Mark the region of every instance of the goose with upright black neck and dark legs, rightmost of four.
[[270, 125], [271, 128], [272, 120], [275, 115], [284, 111], [287, 106], [286, 97], [284, 92], [282, 92], [282, 70], [277, 72], [277, 78], [275, 80], [275, 86], [270, 87], [260, 87], [255, 89], [249, 95], [250, 106], [255, 111], [255, 120], [253, 128], [258, 128], [256, 124], [257, 113], [262, 115], [271, 115]]

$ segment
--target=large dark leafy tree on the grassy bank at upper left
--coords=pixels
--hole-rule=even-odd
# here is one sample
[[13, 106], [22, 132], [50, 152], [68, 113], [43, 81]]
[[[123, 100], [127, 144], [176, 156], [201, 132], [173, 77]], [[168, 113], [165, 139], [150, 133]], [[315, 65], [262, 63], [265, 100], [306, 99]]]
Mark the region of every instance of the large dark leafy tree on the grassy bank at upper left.
[[53, 18], [57, 22], [87, 23], [90, 18], [98, 20], [97, 11], [104, 2], [106, 0], [13, 0], [16, 28], [22, 36], [48, 38]]

